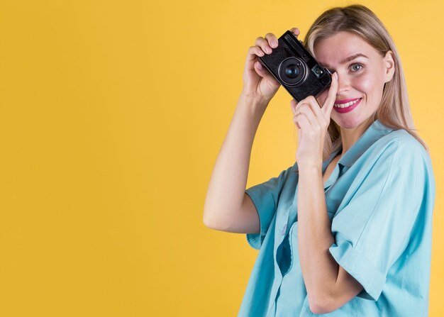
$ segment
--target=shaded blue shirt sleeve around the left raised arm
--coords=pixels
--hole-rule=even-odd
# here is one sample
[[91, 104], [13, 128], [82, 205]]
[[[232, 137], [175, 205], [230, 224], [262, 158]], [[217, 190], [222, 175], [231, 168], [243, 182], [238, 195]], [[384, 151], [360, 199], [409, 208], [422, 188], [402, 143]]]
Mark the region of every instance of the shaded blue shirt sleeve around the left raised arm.
[[247, 234], [248, 243], [256, 250], [260, 249], [268, 228], [270, 228], [270, 223], [272, 223], [274, 213], [277, 210], [279, 195], [292, 169], [293, 166], [283, 170], [278, 177], [273, 177], [267, 182], [257, 184], [245, 190], [245, 194], [250, 196], [252, 203], [256, 207], [260, 221], [260, 233]]

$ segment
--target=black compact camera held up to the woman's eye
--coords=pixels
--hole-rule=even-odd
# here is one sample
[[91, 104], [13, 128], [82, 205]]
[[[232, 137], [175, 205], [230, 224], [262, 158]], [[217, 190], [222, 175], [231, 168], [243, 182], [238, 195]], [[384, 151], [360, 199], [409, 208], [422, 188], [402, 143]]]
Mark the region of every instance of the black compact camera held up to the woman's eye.
[[259, 60], [296, 101], [317, 96], [331, 84], [331, 72], [316, 62], [291, 31], [278, 42], [270, 55]]

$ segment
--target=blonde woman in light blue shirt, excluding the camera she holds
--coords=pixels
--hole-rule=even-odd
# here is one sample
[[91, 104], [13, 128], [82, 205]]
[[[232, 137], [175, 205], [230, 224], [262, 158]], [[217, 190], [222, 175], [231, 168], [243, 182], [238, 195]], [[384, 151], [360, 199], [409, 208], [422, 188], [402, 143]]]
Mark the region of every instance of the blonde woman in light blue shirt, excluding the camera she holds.
[[239, 316], [428, 316], [435, 182], [393, 40], [353, 5], [322, 13], [305, 45], [333, 81], [290, 103], [296, 163], [245, 191], [252, 141], [279, 89], [257, 61], [277, 47], [268, 33], [248, 51], [206, 196], [206, 226], [247, 233], [260, 250]]

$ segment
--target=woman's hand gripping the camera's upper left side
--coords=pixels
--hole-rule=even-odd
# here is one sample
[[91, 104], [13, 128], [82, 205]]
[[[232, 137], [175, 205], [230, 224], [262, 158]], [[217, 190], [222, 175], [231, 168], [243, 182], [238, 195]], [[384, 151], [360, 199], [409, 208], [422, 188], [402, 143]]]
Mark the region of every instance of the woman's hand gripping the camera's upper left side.
[[[297, 37], [298, 28], [292, 28], [292, 33]], [[277, 48], [277, 38], [273, 33], [267, 33], [265, 38], [257, 38], [256, 45], [248, 50], [247, 60], [243, 71], [243, 91], [244, 96], [260, 99], [269, 103], [281, 84], [272, 74], [260, 64], [259, 56], [270, 55], [273, 48]]]

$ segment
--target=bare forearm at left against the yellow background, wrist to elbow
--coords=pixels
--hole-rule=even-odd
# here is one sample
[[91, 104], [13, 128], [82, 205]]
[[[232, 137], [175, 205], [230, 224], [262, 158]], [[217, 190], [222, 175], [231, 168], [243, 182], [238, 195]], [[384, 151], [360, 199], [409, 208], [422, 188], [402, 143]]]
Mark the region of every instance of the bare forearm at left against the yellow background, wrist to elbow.
[[240, 95], [213, 168], [204, 206], [204, 222], [226, 223], [243, 204], [252, 143], [267, 104]]

